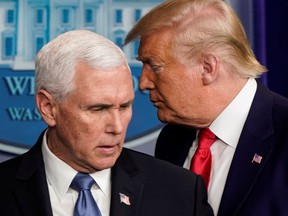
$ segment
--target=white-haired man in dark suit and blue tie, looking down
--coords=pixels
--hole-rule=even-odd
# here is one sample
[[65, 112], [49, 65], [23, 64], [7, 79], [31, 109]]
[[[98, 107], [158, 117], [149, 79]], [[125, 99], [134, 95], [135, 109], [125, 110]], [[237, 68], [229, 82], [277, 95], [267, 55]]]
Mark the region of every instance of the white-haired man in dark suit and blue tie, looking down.
[[87, 30], [58, 36], [37, 54], [35, 82], [48, 128], [0, 164], [1, 215], [213, 215], [200, 176], [123, 148], [134, 89], [110, 40]]

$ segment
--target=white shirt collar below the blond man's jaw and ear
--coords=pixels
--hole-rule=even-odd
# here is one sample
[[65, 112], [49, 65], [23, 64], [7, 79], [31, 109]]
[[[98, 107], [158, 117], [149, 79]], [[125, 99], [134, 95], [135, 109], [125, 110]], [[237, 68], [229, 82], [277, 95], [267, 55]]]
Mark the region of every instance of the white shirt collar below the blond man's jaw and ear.
[[209, 126], [219, 139], [233, 148], [237, 147], [256, 89], [256, 80], [248, 79], [238, 95]]

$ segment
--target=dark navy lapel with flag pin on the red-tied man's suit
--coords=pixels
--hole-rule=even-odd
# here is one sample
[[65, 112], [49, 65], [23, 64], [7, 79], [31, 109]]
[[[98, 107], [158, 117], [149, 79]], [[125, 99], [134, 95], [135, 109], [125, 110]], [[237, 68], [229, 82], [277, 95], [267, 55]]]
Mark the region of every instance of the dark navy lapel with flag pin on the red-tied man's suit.
[[[274, 149], [270, 140], [273, 135], [272, 106], [271, 94], [258, 83], [228, 173], [218, 216], [237, 214]], [[262, 157], [260, 163], [252, 162], [255, 154]]]

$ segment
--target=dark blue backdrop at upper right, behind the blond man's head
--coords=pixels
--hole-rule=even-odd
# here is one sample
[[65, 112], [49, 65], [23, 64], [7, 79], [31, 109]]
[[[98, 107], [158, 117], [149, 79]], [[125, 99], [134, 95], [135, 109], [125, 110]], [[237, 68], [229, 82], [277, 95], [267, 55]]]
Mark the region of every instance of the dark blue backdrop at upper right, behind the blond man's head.
[[257, 55], [268, 68], [265, 82], [271, 90], [288, 97], [288, 2], [253, 1], [256, 4], [255, 20], [258, 20], [258, 27], [255, 28], [255, 34], [258, 34], [255, 37]]

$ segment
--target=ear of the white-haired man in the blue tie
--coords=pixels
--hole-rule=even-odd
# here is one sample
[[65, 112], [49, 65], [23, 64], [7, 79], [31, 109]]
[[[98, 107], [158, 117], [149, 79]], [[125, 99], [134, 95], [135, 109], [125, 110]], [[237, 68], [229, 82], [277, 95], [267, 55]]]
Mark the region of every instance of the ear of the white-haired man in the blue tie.
[[46, 124], [50, 127], [54, 126], [56, 124], [56, 103], [53, 96], [46, 90], [41, 89], [36, 93], [36, 105]]

